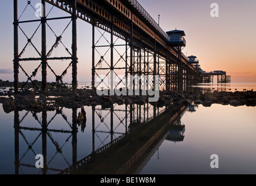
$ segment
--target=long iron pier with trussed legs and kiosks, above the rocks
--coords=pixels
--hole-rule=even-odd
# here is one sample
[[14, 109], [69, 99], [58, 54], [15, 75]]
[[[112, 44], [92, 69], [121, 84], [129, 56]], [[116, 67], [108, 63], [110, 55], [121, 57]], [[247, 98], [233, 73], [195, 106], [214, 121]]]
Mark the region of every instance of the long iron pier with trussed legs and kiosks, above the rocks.
[[[36, 1], [36, 0], [34, 0]], [[27, 82], [31, 81], [35, 88], [41, 92], [47, 92], [57, 83], [63, 84], [64, 76], [72, 74], [72, 91], [76, 94], [78, 87], [78, 41], [77, 19], [81, 19], [92, 25], [92, 87], [100, 88], [99, 84], [110, 76], [111, 84], [107, 88], [114, 90], [118, 85], [129, 87], [135, 84], [130, 80], [131, 76], [147, 77], [147, 81], [159, 75], [160, 86], [165, 90], [183, 91], [192, 84], [208, 81], [209, 74], [202, 73], [197, 68], [197, 63], [188, 59], [182, 49], [186, 46], [185, 33], [182, 30], [163, 31], [159, 24], [142, 8], [136, 0], [41, 0], [43, 5], [41, 14], [34, 8], [32, 1], [13, 0], [14, 8], [14, 89], [15, 93], [22, 91], [26, 86], [19, 87], [19, 71], [25, 74]], [[24, 8], [18, 14], [19, 8]], [[49, 10], [46, 5], [50, 5]], [[20, 7], [21, 6], [21, 7]], [[50, 17], [54, 8], [63, 10], [67, 16]], [[23, 19], [27, 9], [33, 9], [38, 15], [37, 19]], [[31, 17], [31, 16], [30, 16]], [[61, 34], [55, 32], [51, 22], [55, 23], [68, 20]], [[34, 33], [26, 34], [24, 24], [37, 24]], [[71, 27], [72, 47], [68, 48], [62, 39], [66, 30]], [[30, 28], [31, 30], [31, 28]], [[37, 33], [40, 33], [38, 36]], [[55, 35], [54, 40], [48, 40], [47, 34]], [[86, 30], [85, 30], [86, 34]], [[20, 36], [25, 37], [24, 40]], [[41, 48], [34, 44], [36, 37], [40, 39]], [[67, 37], [65, 35], [65, 37]], [[24, 45], [24, 47], [19, 48]], [[30, 49], [29, 54], [24, 55]], [[55, 48], [62, 47], [66, 55], [52, 56]], [[35, 56], [30, 56], [31, 51]], [[61, 61], [64, 70], [56, 73], [52, 64]], [[38, 66], [29, 74], [26, 71], [26, 62], [33, 62]], [[41, 69], [41, 71], [40, 71]], [[41, 74], [41, 87], [33, 82]], [[113, 71], [112, 73], [110, 71]], [[122, 72], [120, 72], [122, 71]], [[120, 72], [120, 73], [119, 73]], [[47, 86], [47, 74], [55, 76], [55, 82]], [[125, 74], [120, 76], [119, 74]], [[99, 76], [103, 75], [103, 76]], [[213, 74], [211, 74], [213, 75]], [[114, 76], [118, 77], [119, 83], [114, 84]], [[97, 78], [99, 82], [97, 81]], [[223, 80], [223, 79], [222, 79]], [[141, 82], [137, 83], [141, 88]], [[20, 88], [20, 89], [19, 89]]]

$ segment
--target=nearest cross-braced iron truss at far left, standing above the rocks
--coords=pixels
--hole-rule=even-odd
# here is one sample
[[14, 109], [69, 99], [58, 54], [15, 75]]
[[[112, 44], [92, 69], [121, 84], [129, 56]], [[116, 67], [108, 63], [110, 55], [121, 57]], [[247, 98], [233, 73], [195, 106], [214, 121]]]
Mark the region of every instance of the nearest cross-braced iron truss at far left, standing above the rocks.
[[[17, 13], [17, 0], [13, 1], [14, 2], [14, 60], [13, 60], [13, 67], [14, 67], [14, 77], [15, 77], [15, 81], [14, 81], [14, 86], [15, 86], [15, 93], [19, 92], [19, 69], [22, 70], [22, 72], [26, 75], [27, 77], [27, 81], [26, 83], [21, 87], [20, 91], [23, 90], [23, 88], [26, 86], [26, 84], [31, 81], [31, 83], [34, 85], [35, 88], [37, 88], [37, 90], [40, 90], [42, 92], [47, 92], [47, 69], [51, 71], [52, 74], [54, 74], [55, 76], [55, 82], [54, 84], [51, 85], [51, 87], [49, 87], [49, 89], [53, 88], [57, 83], [63, 83], [63, 77], [65, 76], [65, 74], [68, 72], [69, 67], [72, 66], [72, 89], [73, 89], [73, 93], [76, 93], [76, 87], [77, 87], [77, 72], [76, 72], [76, 64], [78, 63], [78, 59], [76, 56], [76, 50], [77, 50], [77, 46], [76, 46], [76, 1], [72, 1], [72, 10], [69, 8], [69, 13], [71, 13], [71, 16], [66, 16], [66, 17], [54, 17], [54, 18], [48, 18], [48, 15], [52, 12], [54, 5], [52, 5], [52, 8], [47, 12], [46, 8], [45, 8], [45, 0], [41, 1], [41, 5], [43, 6], [41, 15], [39, 15], [36, 11], [36, 9], [34, 9], [32, 3], [33, 0], [29, 1], [23, 1], [24, 3], [26, 3], [26, 6], [23, 10], [23, 12], [21, 13], [21, 15], [18, 16]], [[35, 2], [35, 1], [34, 1]], [[58, 2], [58, 3], [63, 3], [63, 2]], [[27, 11], [27, 9], [31, 7], [34, 10], [34, 13], [37, 14], [37, 16], [39, 17], [39, 19], [36, 20], [24, 20], [24, 21], [20, 21], [20, 19], [22, 18], [24, 12]], [[68, 24], [66, 25], [66, 27], [64, 28], [64, 30], [62, 31], [62, 33], [60, 35], [57, 35], [54, 31], [54, 29], [52, 29], [52, 27], [50, 26], [49, 22], [51, 22], [52, 20], [63, 20], [63, 19], [68, 19], [70, 20], [68, 22]], [[36, 28], [36, 30], [34, 31], [34, 33], [32, 35], [27, 35], [26, 31], [24, 30], [24, 28], [22, 28], [22, 25], [25, 23], [38, 23], [38, 27]], [[68, 48], [64, 45], [64, 42], [62, 42], [62, 35], [65, 33], [65, 31], [67, 30], [67, 28], [69, 26], [72, 26], [72, 48]], [[36, 45], [34, 45], [34, 36], [35, 34], [41, 29], [41, 51], [40, 49], [38, 49], [36, 47]], [[52, 41], [51, 47], [50, 49], [47, 50], [47, 41], [46, 41], [46, 32], [47, 29], [49, 30], [48, 33], [54, 34], [55, 36], [55, 41]], [[22, 33], [26, 39], [27, 42], [26, 44], [24, 44], [24, 47], [21, 51], [19, 51], [19, 33]], [[49, 42], [50, 43], [50, 42]], [[27, 47], [31, 45], [34, 48], [34, 51], [36, 51], [37, 56], [27, 56], [26, 58], [22, 58], [23, 57], [23, 53], [26, 51]], [[57, 47], [64, 47], [64, 49], [66, 50], [67, 56], [60, 56], [60, 57], [51, 57], [52, 52], [54, 51], [55, 48]], [[31, 51], [30, 51], [31, 52]], [[63, 62], [63, 60], [68, 60], [68, 65], [66, 66], [65, 70], [61, 73], [61, 74], [57, 74], [55, 73], [54, 69], [52, 69], [52, 67], [50, 66], [50, 62], [54, 62], [56, 60], [61, 60]], [[36, 69], [34, 69], [34, 71], [31, 74], [28, 74], [26, 72], [26, 69], [24, 69], [24, 67], [22, 66], [21, 62], [39, 62], [38, 66], [36, 67]], [[36, 77], [38, 70], [41, 68], [41, 88], [39, 88], [36, 84], [34, 84], [33, 82], [33, 78]]]

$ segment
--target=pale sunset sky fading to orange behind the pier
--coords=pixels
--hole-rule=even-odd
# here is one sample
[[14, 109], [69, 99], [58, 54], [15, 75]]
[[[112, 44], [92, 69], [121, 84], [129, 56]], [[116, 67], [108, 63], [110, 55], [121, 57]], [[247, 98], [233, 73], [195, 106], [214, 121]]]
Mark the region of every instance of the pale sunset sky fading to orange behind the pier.
[[[21, 15], [26, 0], [19, 0], [19, 15]], [[36, 5], [37, 0], [31, 4]], [[256, 82], [256, 1], [255, 0], [138, 0], [143, 8], [158, 22], [164, 31], [184, 30], [187, 46], [183, 53], [195, 55], [201, 68], [205, 71], [224, 70], [232, 76], [232, 83]], [[219, 17], [211, 17], [212, 3], [219, 5]], [[47, 5], [47, 11], [51, 9]], [[0, 7], [0, 79], [13, 81], [13, 1], [3, 1]], [[54, 8], [49, 17], [66, 15]], [[33, 17], [33, 18], [32, 18]], [[33, 9], [27, 9], [20, 20], [37, 19]], [[57, 35], [60, 35], [69, 20], [51, 21], [49, 25]], [[21, 25], [20, 27], [32, 35], [37, 23]], [[39, 29], [40, 30], [40, 29]], [[40, 51], [40, 31], [34, 35], [33, 44]], [[26, 38], [19, 31], [19, 51], [26, 44]], [[52, 31], [47, 28], [47, 48], [54, 44]], [[71, 26], [62, 35], [62, 42], [71, 51]], [[63, 55], [65, 53], [65, 55]], [[59, 46], [52, 56], [66, 56], [65, 48]], [[27, 47], [24, 56], [37, 55], [33, 47]], [[92, 26], [78, 19], [78, 81], [91, 80], [92, 69]], [[61, 74], [69, 65], [68, 62], [49, 62], [52, 69]], [[22, 62], [29, 74], [38, 66], [37, 62]], [[26, 77], [20, 72], [20, 81]], [[40, 73], [37, 80], [41, 80]], [[54, 81], [54, 76], [48, 69], [47, 81]], [[71, 81], [71, 69], [64, 81]]]

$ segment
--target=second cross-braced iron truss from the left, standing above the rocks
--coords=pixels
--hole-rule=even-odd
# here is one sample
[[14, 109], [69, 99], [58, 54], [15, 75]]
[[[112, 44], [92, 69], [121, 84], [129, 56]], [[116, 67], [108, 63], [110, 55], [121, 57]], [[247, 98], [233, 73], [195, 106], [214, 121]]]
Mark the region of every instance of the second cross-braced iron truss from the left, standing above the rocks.
[[[103, 85], [111, 90], [118, 86], [126, 87], [128, 70], [130, 69], [128, 40], [121, 40], [120, 37], [114, 35], [113, 24], [110, 26], [110, 34], [98, 27], [100, 27], [99, 23], [96, 22], [95, 26], [93, 24], [92, 87], [100, 88], [99, 86]], [[123, 74], [124, 72], [125, 74]], [[97, 85], [95, 84], [95, 76], [100, 78]], [[114, 76], [118, 79], [117, 84], [114, 84], [116, 81]]]

